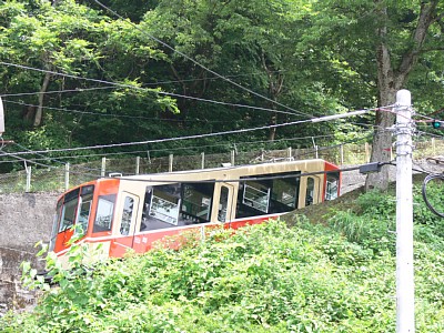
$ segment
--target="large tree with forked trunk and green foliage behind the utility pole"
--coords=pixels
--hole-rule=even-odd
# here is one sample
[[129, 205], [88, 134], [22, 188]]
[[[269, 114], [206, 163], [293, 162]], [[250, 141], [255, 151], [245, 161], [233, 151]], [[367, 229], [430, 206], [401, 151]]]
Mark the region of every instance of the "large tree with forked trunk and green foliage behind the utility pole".
[[[443, 3], [438, 0], [416, 1], [413, 6], [411, 1], [320, 1], [315, 9], [306, 41], [314, 41], [329, 54], [330, 62], [343, 62], [365, 78], [371, 89], [356, 91], [366, 94], [364, 100], [371, 101], [371, 93], [374, 93], [377, 107], [392, 105], [396, 91], [410, 84], [415, 89], [414, 97], [421, 100], [426, 87], [412, 83], [414, 78], [410, 74], [426, 52], [444, 46], [441, 38]], [[394, 120], [395, 115], [386, 110], [376, 112], [373, 162], [390, 161], [392, 133], [387, 128]], [[367, 176], [365, 188], [385, 190], [387, 185], [389, 167], [384, 167], [382, 172]]]

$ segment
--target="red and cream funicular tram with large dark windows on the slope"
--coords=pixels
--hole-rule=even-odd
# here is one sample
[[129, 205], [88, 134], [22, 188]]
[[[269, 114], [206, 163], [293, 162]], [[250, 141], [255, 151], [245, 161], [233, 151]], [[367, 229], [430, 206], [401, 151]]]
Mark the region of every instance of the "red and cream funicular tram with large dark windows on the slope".
[[103, 258], [143, 253], [185, 230], [238, 229], [335, 199], [340, 184], [340, 169], [320, 159], [98, 179], [60, 196], [50, 250], [63, 258], [80, 232]]

